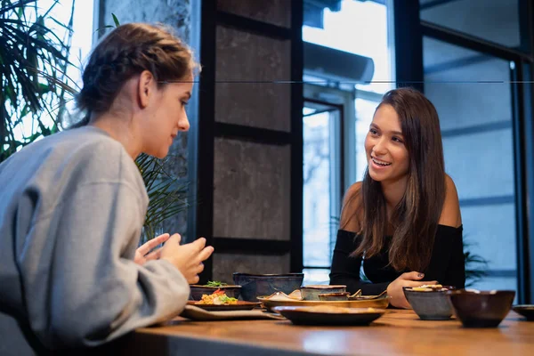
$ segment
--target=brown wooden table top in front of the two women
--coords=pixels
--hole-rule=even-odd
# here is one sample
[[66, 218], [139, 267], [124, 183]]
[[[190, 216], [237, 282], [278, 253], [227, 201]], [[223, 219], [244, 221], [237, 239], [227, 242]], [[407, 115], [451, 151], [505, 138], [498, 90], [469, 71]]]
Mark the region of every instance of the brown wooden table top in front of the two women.
[[388, 310], [368, 327], [303, 327], [288, 320], [174, 320], [140, 328], [127, 355], [534, 355], [534, 322], [510, 312], [499, 328], [419, 320]]

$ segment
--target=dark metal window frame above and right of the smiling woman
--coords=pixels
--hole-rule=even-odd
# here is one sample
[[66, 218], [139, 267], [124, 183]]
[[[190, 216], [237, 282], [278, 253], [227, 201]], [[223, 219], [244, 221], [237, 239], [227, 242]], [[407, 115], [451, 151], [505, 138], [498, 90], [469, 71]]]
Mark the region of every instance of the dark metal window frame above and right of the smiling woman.
[[[508, 48], [500, 44], [485, 41], [476, 36], [470, 36], [459, 31], [444, 28], [433, 23], [423, 21], [419, 16], [418, 0], [394, 1], [395, 21], [395, 52], [410, 53], [414, 48], [417, 53], [410, 53], [399, 60], [396, 56], [396, 71], [399, 74], [411, 74], [410, 79], [417, 87], [423, 82], [423, 52], [418, 51], [418, 44], [423, 37], [428, 36], [441, 40], [447, 44], [455, 44], [473, 51], [489, 54], [490, 56], [514, 62], [511, 72], [511, 86], [513, 93], [513, 130], [514, 130], [514, 175], [515, 175], [515, 206], [516, 206], [516, 246], [517, 246], [517, 275], [519, 303], [534, 302], [534, 154], [532, 153], [534, 132], [532, 127], [532, 103], [534, 100], [532, 83], [534, 82], [534, 5], [528, 0], [519, 1], [521, 50]], [[406, 12], [409, 8], [411, 11]], [[417, 13], [413, 11], [417, 7]], [[400, 22], [401, 21], [401, 22]], [[408, 44], [409, 38], [416, 44]], [[420, 56], [412, 63], [407, 63], [414, 57]], [[421, 89], [424, 86], [421, 85]]]

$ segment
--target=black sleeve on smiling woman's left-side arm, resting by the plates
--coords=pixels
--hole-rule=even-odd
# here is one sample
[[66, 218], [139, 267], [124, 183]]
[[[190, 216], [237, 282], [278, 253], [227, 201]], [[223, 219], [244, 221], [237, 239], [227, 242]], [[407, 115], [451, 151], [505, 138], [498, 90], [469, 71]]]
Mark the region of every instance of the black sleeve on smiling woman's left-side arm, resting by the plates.
[[368, 283], [360, 279], [361, 256], [351, 256], [352, 251], [357, 247], [354, 232], [337, 231], [336, 247], [334, 247], [330, 270], [330, 284], [345, 285], [350, 293], [356, 293], [358, 289], [361, 289], [362, 295], [379, 295], [384, 292], [389, 283]]

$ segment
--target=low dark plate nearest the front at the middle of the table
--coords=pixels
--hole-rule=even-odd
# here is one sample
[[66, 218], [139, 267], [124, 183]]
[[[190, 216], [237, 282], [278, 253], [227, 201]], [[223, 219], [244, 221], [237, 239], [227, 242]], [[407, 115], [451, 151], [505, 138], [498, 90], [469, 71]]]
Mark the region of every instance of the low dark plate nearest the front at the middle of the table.
[[384, 315], [384, 310], [351, 308], [351, 312], [318, 312], [314, 307], [277, 306], [272, 308], [295, 325], [365, 326]]

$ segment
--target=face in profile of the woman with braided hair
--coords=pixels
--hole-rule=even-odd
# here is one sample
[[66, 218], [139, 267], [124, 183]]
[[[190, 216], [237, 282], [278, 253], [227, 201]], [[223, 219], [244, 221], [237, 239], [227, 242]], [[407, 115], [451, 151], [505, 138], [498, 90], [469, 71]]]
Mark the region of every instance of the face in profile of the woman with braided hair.
[[188, 131], [190, 123], [185, 106], [191, 97], [193, 77], [182, 82], [169, 83], [158, 89], [152, 101], [150, 121], [144, 130], [143, 152], [157, 158], [165, 158], [180, 131]]

